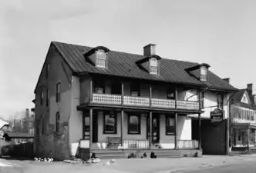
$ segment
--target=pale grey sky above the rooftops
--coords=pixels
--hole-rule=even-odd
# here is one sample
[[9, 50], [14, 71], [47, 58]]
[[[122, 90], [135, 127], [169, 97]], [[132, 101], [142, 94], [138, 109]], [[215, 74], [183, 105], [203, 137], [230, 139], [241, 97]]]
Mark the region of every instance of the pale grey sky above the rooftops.
[[231, 85], [254, 83], [256, 1], [0, 0], [0, 117], [33, 108], [51, 41], [208, 63]]

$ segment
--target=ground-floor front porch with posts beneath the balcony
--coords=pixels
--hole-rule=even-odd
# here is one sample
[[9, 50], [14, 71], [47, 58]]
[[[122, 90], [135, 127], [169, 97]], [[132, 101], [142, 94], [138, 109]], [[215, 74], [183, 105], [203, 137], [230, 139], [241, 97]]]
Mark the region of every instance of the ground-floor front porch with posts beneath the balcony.
[[192, 131], [191, 118], [174, 112], [90, 108], [83, 111], [80, 147], [97, 157], [123, 157], [132, 151], [180, 157], [181, 151], [200, 150], [200, 138], [192, 139]]

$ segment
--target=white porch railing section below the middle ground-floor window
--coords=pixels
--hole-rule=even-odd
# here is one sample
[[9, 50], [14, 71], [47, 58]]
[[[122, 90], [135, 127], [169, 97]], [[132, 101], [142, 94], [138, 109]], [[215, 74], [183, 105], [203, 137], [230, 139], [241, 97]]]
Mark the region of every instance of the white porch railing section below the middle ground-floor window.
[[124, 139], [123, 148], [149, 148], [149, 141], [138, 139]]

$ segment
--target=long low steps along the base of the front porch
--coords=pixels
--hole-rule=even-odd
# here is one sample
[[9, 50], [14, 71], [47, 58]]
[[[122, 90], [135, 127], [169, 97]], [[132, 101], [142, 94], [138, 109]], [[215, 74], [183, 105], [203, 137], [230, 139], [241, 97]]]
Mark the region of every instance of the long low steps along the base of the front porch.
[[151, 150], [130, 150], [126, 149], [124, 151], [122, 150], [116, 150], [116, 149], [99, 149], [99, 150], [92, 150], [96, 154], [96, 157], [101, 159], [108, 159], [108, 158], [127, 158], [127, 156], [130, 153], [144, 153], [150, 155], [151, 152], [154, 152], [155, 155], [157, 155], [157, 158], [181, 158], [181, 152], [178, 150], [172, 150], [172, 149], [151, 149]]

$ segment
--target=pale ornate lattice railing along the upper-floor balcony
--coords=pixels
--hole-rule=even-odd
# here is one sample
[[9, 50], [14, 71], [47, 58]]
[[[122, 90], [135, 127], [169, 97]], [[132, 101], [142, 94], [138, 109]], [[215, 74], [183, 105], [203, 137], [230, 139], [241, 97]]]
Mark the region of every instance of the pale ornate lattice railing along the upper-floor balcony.
[[[122, 105], [122, 95], [108, 95], [93, 93], [92, 103], [103, 105]], [[150, 98], [123, 96], [123, 105], [150, 107]], [[175, 108], [175, 100], [152, 98], [153, 108]], [[178, 109], [199, 110], [198, 101], [177, 101]]]

